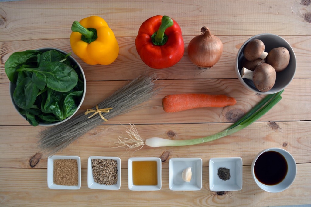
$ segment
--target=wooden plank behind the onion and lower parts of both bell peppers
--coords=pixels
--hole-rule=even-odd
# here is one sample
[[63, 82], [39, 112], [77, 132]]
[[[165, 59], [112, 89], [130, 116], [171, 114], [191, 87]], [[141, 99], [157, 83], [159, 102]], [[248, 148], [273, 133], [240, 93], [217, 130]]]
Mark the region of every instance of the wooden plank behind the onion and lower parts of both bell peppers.
[[[236, 79], [234, 64], [236, 54], [242, 44], [251, 36], [221, 36], [224, 44], [224, 52], [220, 60], [210, 70], [199, 70], [189, 60], [187, 47], [193, 38], [184, 37], [185, 53], [182, 59], [174, 66], [156, 70], [149, 68], [142, 62], [137, 54], [135, 38], [117, 38], [120, 52], [117, 60], [110, 65], [87, 65], [75, 54], [74, 58], [81, 64], [86, 79], [91, 80], [128, 80], [134, 79], [140, 74], [156, 74], [160, 79]], [[293, 47], [295, 52], [297, 69], [295, 78], [311, 78], [309, 70], [309, 60], [311, 59], [311, 36], [283, 36]], [[42, 47], [54, 47], [70, 52], [69, 39], [61, 40], [27, 40], [2, 42], [0, 47], [0, 83], [8, 83], [7, 75], [4, 71], [4, 63], [13, 53], [29, 49], [39, 49]]]

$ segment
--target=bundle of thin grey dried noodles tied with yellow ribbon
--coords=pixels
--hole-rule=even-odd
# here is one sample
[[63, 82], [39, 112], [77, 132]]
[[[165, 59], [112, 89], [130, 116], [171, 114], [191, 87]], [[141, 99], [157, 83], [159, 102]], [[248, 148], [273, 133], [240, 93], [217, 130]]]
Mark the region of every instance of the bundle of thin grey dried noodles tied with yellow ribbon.
[[[100, 102], [98, 107], [113, 108], [109, 113], [105, 113], [105, 118], [108, 120], [129, 111], [146, 107], [146, 105], [140, 104], [150, 100], [161, 89], [156, 88], [154, 81], [153, 76], [141, 75]], [[92, 109], [96, 110], [95, 106]], [[103, 121], [100, 115], [88, 118], [84, 113], [81, 113], [62, 124], [41, 131], [38, 141], [39, 148], [44, 154], [47, 153], [47, 156], [53, 155]]]

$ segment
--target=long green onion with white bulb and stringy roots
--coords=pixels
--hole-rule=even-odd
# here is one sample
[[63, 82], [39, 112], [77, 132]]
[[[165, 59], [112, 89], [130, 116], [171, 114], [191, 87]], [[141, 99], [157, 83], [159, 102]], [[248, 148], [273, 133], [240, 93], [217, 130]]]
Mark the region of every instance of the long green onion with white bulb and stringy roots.
[[150, 146], [150, 147], [188, 146], [188, 145], [202, 144], [205, 142], [211, 142], [221, 137], [225, 137], [227, 135], [238, 132], [239, 130], [254, 123], [264, 114], [266, 114], [270, 109], [272, 109], [272, 107], [275, 106], [282, 99], [281, 93], [283, 91], [284, 90], [278, 93], [267, 95], [256, 106], [254, 106], [247, 114], [245, 114], [242, 118], [240, 118], [230, 127], [226, 128], [225, 130], [219, 133], [216, 133], [216, 134], [213, 134], [207, 137], [190, 139], [190, 140], [170, 140], [170, 139], [164, 139], [160, 137], [151, 137], [146, 140], [143, 140], [139, 136], [135, 126], [130, 125], [131, 128], [128, 128], [128, 131], [127, 131], [129, 138], [120, 137], [116, 145], [125, 146], [128, 148], [135, 148], [135, 147], [142, 147], [144, 145]]

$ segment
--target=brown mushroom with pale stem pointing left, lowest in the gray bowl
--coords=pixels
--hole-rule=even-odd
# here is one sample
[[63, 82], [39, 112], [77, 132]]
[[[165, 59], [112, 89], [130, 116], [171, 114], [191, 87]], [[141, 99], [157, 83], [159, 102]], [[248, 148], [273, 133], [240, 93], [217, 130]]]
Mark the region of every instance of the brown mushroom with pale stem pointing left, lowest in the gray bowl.
[[269, 91], [276, 81], [276, 71], [267, 63], [258, 65], [254, 71], [242, 68], [241, 76], [253, 80], [255, 87], [261, 92]]

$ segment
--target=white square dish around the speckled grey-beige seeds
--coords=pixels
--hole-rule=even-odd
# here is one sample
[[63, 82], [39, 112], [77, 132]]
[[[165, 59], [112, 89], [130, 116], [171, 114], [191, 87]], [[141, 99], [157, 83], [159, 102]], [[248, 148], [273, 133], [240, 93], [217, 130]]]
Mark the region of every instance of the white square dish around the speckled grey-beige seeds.
[[[92, 159], [107, 159], [107, 160], [117, 160], [117, 183], [114, 185], [104, 185], [99, 184], [94, 181], [93, 169], [92, 169]], [[91, 189], [102, 189], [102, 190], [119, 190], [121, 187], [121, 159], [119, 157], [102, 157], [102, 156], [91, 156], [87, 161], [87, 185]]]

